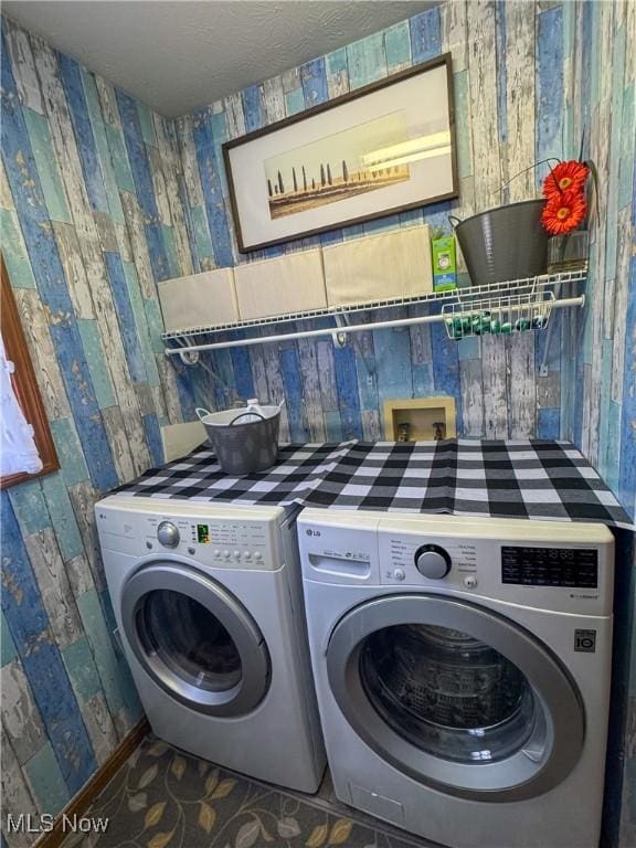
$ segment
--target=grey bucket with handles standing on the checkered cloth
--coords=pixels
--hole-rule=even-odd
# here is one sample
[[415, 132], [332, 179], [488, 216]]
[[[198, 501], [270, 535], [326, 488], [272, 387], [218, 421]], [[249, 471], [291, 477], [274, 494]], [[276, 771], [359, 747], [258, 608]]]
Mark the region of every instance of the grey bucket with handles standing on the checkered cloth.
[[198, 409], [197, 414], [226, 474], [264, 471], [276, 463], [280, 406], [223, 412]]

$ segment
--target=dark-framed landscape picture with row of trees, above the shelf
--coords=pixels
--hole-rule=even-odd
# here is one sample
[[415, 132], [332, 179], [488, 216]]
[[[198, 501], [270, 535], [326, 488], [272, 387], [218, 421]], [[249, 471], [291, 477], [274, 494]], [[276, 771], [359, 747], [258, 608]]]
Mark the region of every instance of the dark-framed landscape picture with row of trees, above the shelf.
[[451, 54], [223, 145], [239, 250], [457, 197]]

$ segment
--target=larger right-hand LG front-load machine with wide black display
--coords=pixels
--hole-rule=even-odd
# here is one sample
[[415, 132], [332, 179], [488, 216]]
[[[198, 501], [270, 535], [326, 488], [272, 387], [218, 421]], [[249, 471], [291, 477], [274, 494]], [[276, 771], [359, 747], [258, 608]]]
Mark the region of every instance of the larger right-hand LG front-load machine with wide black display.
[[610, 530], [308, 509], [298, 538], [337, 796], [453, 848], [597, 848]]

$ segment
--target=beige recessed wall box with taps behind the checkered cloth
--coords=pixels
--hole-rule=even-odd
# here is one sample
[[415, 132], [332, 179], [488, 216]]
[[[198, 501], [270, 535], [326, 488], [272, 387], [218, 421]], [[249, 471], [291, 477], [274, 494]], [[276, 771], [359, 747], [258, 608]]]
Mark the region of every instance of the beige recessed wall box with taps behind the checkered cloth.
[[456, 438], [455, 399], [407, 398], [384, 401], [384, 437], [390, 442]]

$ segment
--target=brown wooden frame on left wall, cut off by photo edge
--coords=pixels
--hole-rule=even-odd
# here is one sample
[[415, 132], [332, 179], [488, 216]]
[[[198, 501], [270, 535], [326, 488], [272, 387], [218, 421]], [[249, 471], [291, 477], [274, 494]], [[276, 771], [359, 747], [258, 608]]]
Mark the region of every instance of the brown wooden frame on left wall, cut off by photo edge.
[[10, 377], [11, 386], [28, 424], [33, 428], [33, 441], [42, 460], [42, 468], [34, 474], [19, 471], [0, 477], [0, 488], [4, 489], [17, 483], [51, 474], [51, 471], [60, 468], [60, 462], [57, 460], [55, 445], [51, 436], [49, 422], [46, 421], [46, 413], [35, 380], [35, 372], [33, 371], [33, 363], [26, 347], [24, 331], [20, 324], [18, 306], [11, 290], [4, 259], [1, 256], [0, 272], [2, 276], [1, 336], [7, 360], [13, 363], [13, 373]]

